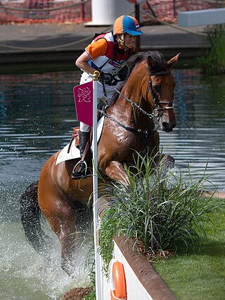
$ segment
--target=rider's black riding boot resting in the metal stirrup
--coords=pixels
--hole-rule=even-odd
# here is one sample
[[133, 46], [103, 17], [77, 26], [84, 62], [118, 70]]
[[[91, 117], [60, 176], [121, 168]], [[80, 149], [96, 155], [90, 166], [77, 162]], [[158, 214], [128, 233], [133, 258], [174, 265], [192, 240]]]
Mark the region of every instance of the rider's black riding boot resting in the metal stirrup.
[[[81, 161], [72, 170], [72, 179], [80, 179], [88, 175], [86, 160], [82, 160], [82, 156], [84, 154], [86, 143], [89, 141], [89, 135], [89, 132], [79, 131], [79, 152], [81, 156]], [[75, 169], [77, 169], [77, 171]]]

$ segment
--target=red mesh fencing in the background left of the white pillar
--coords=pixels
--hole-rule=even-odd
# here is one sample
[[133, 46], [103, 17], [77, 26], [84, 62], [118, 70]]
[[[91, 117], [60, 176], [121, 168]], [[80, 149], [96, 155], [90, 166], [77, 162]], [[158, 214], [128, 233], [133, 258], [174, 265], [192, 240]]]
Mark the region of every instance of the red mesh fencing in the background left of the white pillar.
[[0, 22], [63, 23], [91, 21], [91, 0], [0, 0]]

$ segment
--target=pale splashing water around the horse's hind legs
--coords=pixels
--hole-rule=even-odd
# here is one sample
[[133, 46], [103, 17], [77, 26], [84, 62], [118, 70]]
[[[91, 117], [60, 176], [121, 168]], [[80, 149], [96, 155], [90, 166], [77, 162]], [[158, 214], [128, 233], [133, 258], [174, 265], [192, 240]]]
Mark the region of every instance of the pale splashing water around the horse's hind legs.
[[60, 268], [60, 244], [52, 235], [51, 260], [46, 261], [27, 243], [18, 222], [0, 224], [0, 299], [49, 300], [62, 299], [76, 286], [89, 284], [84, 269], [85, 246], [75, 258], [75, 272], [69, 277]]

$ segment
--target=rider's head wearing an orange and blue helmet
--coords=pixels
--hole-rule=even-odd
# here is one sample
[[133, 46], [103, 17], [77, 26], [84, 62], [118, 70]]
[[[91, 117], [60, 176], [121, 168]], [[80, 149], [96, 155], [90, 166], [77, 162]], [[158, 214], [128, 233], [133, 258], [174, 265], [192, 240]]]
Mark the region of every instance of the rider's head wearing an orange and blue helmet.
[[133, 48], [136, 36], [143, 34], [139, 22], [131, 15], [121, 15], [113, 25], [113, 35], [116, 36], [120, 48]]

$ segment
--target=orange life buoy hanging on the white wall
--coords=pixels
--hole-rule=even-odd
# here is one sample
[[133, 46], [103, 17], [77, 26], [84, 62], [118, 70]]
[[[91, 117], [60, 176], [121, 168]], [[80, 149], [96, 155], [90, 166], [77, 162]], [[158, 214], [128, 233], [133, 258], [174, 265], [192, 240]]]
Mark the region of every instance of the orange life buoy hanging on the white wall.
[[124, 266], [120, 261], [110, 261], [111, 300], [127, 300], [127, 285]]

